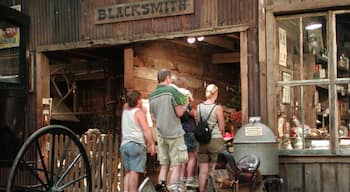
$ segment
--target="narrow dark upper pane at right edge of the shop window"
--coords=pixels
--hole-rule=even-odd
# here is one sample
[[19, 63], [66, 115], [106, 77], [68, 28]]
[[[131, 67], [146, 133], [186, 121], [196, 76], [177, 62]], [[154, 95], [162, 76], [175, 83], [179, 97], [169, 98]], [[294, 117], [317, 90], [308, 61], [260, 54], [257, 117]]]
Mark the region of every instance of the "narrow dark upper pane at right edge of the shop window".
[[336, 15], [337, 77], [350, 77], [350, 13]]

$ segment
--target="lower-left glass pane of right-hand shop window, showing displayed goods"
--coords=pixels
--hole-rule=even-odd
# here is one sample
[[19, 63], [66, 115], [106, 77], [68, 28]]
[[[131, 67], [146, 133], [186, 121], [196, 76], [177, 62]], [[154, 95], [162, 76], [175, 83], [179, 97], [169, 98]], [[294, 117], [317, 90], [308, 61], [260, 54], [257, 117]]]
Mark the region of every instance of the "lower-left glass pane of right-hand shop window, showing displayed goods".
[[327, 86], [290, 88], [290, 103], [281, 103], [278, 135], [281, 149], [329, 149], [329, 101]]

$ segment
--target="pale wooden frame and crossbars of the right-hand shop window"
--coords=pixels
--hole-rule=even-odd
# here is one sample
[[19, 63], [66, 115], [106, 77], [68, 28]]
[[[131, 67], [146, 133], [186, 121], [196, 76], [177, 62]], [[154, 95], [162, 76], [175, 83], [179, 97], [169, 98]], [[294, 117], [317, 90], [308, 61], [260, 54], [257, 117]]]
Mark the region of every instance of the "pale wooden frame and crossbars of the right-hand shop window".
[[[322, 150], [315, 150], [315, 149], [279, 149], [280, 155], [350, 155], [350, 148], [348, 149], [340, 149], [339, 147], [339, 136], [337, 127], [339, 126], [338, 122], [338, 96], [337, 96], [337, 90], [336, 85], [340, 83], [350, 83], [350, 78], [338, 78], [337, 77], [337, 33], [336, 33], [336, 15], [337, 14], [350, 14], [350, 10], [335, 10], [335, 11], [326, 11], [326, 12], [315, 12], [315, 13], [304, 13], [304, 14], [293, 14], [293, 15], [278, 15], [274, 16], [274, 35], [272, 36], [272, 40], [274, 42], [273, 46], [274, 49], [274, 57], [273, 57], [273, 70], [275, 73], [279, 73], [281, 70], [278, 69], [277, 66], [279, 66], [278, 61], [278, 36], [276, 35], [278, 32], [277, 27], [277, 21], [280, 20], [286, 20], [286, 19], [300, 19], [302, 21], [303, 17], [309, 17], [309, 16], [325, 16], [326, 17], [326, 23], [327, 23], [327, 45], [328, 48], [328, 76], [324, 79], [310, 79], [310, 80], [291, 80], [291, 81], [282, 81], [279, 78], [279, 75], [274, 75], [273, 78], [275, 78], [275, 90], [281, 89], [283, 86], [289, 86], [289, 87], [300, 87], [301, 90], [303, 90], [304, 86], [312, 85], [312, 86], [318, 86], [318, 85], [327, 85], [328, 86], [328, 104], [329, 104], [329, 142], [330, 146], [329, 149], [322, 149]], [[299, 26], [302, 25], [302, 22], [299, 23]], [[303, 37], [303, 30], [299, 31], [300, 35]], [[302, 40], [301, 40], [302, 41]], [[299, 46], [303, 46], [303, 43], [300, 43]], [[299, 55], [299, 58], [303, 59], [303, 52]], [[275, 92], [276, 94], [276, 92]], [[304, 98], [303, 91], [301, 91], [300, 94], [301, 98]], [[275, 106], [278, 106], [281, 103], [277, 103], [277, 95], [275, 96]], [[303, 105], [303, 104], [302, 104]], [[277, 122], [277, 109], [274, 110], [274, 123], [273, 125], [276, 125]], [[302, 113], [304, 113], [302, 111]], [[304, 118], [304, 115], [303, 117]], [[302, 120], [303, 122], [303, 120]], [[275, 126], [276, 127], [276, 126]], [[303, 137], [303, 140], [305, 138]]]

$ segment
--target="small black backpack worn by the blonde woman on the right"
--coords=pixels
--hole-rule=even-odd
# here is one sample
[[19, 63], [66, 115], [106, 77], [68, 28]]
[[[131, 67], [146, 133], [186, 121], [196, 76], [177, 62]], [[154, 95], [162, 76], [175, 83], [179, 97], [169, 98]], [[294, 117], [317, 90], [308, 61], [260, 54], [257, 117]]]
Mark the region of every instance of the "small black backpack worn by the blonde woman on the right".
[[213, 112], [215, 106], [216, 105], [214, 105], [214, 107], [210, 110], [210, 113], [206, 120], [202, 119], [200, 105], [198, 107], [199, 121], [196, 128], [194, 129], [194, 137], [196, 138], [198, 143], [208, 144], [210, 142], [212, 130], [209, 128], [208, 119], [211, 113]]

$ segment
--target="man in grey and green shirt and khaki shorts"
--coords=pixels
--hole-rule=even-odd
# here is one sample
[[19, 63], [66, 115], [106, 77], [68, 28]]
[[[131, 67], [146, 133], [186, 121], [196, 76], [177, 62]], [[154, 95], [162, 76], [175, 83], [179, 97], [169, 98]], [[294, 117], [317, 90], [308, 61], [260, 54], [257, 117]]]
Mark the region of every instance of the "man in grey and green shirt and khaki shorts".
[[157, 128], [158, 160], [160, 163], [159, 183], [166, 181], [169, 167], [172, 172], [169, 187], [176, 189], [180, 181], [180, 169], [188, 161], [180, 117], [186, 111], [188, 101], [171, 84], [171, 71], [162, 69], [157, 74], [158, 86], [149, 96], [150, 113]]

